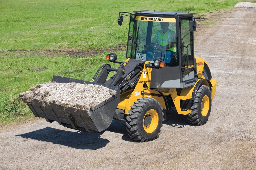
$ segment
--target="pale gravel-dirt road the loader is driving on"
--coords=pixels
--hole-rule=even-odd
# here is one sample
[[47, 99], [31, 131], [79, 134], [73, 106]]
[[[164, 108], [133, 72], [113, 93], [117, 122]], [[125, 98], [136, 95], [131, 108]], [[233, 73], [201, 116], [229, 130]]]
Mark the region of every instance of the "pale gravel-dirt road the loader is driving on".
[[[207, 18], [207, 17], [206, 17]], [[134, 142], [125, 122], [86, 133], [44, 119], [0, 128], [0, 169], [256, 169], [256, 9], [208, 16], [196, 56], [217, 79], [208, 122], [192, 126], [175, 110], [160, 136]]]

